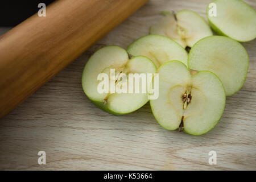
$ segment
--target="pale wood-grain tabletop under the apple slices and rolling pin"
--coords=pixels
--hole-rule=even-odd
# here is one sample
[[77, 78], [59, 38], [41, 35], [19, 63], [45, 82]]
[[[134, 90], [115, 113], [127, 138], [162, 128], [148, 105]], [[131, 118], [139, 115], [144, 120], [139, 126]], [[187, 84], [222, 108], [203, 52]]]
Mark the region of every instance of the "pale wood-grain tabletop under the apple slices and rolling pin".
[[[256, 9], [254, 0], [246, 1]], [[219, 170], [256, 169], [256, 40], [243, 43], [250, 66], [243, 88], [226, 99], [221, 121], [209, 133], [167, 131], [146, 104], [114, 116], [85, 96], [81, 74], [98, 48], [126, 48], [148, 34], [159, 11], [191, 9], [204, 18], [209, 1], [150, 0], [0, 121], [0, 169]], [[1, 34], [9, 28], [0, 28]], [[1, 101], [0, 101], [1, 102]], [[217, 152], [217, 164], [208, 153]], [[39, 165], [38, 151], [46, 151]]]

